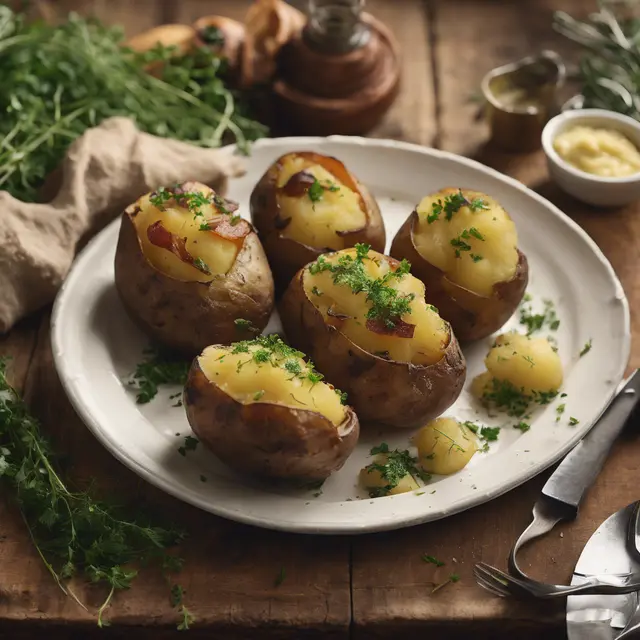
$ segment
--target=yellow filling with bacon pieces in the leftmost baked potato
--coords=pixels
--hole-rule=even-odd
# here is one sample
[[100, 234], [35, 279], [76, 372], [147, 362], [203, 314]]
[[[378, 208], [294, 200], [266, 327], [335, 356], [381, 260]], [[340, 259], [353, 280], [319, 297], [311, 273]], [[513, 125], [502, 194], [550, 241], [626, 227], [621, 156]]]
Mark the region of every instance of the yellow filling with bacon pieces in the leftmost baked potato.
[[[213, 191], [208, 189], [204, 193], [208, 195]], [[133, 223], [142, 253], [158, 271], [184, 282], [211, 282], [216, 275], [229, 272], [241, 243], [201, 229], [206, 220], [220, 216], [213, 203], [198, 207], [198, 213], [195, 214], [187, 207], [179, 206], [174, 200], [163, 203], [161, 209], [152, 204], [151, 196], [152, 194], [147, 194], [138, 201], [139, 211], [133, 216]], [[193, 261], [186, 261], [174, 251], [152, 242], [149, 229], [153, 229], [153, 225], [157, 223], [173, 234], [178, 242], [184, 242], [186, 255], [191, 256]]]

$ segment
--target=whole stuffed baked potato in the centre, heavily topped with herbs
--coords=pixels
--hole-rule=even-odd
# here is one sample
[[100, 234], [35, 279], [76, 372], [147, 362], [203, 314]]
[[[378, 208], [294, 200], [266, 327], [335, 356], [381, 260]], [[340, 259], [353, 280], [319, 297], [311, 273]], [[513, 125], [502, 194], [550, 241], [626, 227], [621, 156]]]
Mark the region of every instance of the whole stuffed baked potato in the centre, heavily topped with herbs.
[[449, 324], [424, 296], [406, 261], [358, 244], [301, 269], [280, 316], [360, 420], [417, 427], [456, 400], [466, 375]]

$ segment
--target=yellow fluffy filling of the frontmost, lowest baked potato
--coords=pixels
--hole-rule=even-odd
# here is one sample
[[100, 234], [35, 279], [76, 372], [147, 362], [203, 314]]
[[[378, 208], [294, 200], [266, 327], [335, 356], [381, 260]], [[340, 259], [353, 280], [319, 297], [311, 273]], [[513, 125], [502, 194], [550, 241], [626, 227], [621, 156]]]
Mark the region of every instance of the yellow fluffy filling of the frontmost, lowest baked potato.
[[271, 354], [262, 361], [258, 352], [265, 350], [260, 345], [233, 351], [233, 346], [207, 347], [198, 362], [207, 379], [237, 402], [279, 404], [315, 411], [336, 426], [344, 422], [346, 409], [340, 396], [332, 386], [310, 379], [313, 370], [301, 357]]

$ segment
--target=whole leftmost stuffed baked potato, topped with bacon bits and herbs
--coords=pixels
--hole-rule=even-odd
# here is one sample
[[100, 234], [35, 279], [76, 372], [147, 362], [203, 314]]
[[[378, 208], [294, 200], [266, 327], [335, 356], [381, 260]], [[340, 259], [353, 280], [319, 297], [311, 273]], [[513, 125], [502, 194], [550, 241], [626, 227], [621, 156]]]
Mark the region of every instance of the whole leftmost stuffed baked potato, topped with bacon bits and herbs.
[[194, 356], [267, 325], [273, 277], [257, 234], [236, 208], [187, 182], [125, 210], [116, 287], [129, 315], [162, 345]]

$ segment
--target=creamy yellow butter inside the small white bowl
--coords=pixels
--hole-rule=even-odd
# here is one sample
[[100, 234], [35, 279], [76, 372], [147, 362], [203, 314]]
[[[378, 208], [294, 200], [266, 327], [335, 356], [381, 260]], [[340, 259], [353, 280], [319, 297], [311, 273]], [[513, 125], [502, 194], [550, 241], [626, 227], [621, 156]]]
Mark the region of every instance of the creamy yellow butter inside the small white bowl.
[[640, 173], [640, 151], [615, 129], [575, 126], [558, 134], [553, 148], [576, 169], [603, 178]]

